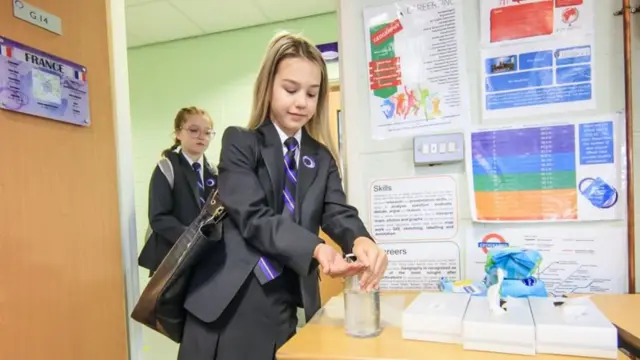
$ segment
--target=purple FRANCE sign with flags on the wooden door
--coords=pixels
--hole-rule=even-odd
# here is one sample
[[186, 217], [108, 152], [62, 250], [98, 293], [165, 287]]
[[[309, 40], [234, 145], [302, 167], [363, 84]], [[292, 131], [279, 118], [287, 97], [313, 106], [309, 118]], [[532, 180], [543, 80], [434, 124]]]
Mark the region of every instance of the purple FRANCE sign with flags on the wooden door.
[[0, 109], [89, 126], [87, 69], [0, 36]]

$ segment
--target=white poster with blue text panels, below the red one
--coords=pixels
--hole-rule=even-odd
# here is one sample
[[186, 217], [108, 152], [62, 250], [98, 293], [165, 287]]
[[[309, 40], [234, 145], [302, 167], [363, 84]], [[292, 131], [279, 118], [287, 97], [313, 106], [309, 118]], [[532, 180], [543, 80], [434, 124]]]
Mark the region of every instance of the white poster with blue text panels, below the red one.
[[486, 48], [481, 58], [484, 119], [596, 107], [591, 38]]

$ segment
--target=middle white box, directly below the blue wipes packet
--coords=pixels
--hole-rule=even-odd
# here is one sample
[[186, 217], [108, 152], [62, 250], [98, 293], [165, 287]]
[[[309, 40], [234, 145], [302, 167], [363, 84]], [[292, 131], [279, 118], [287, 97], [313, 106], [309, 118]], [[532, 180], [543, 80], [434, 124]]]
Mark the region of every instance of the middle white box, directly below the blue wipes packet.
[[494, 314], [485, 296], [469, 301], [462, 322], [462, 347], [465, 350], [535, 355], [536, 335], [529, 301], [510, 298], [507, 311]]

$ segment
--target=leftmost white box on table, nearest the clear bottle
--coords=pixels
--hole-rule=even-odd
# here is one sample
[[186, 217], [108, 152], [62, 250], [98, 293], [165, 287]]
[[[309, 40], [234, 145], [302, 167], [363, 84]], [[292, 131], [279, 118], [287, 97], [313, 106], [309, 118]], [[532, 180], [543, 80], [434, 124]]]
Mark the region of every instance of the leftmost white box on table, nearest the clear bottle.
[[422, 292], [402, 313], [402, 337], [459, 344], [469, 294]]

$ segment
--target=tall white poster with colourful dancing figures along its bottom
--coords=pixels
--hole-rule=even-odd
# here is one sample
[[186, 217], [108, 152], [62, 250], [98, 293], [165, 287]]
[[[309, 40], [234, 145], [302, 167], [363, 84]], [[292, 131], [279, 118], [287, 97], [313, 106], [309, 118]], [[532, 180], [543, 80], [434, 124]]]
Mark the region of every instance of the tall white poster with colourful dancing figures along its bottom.
[[470, 123], [462, 8], [414, 0], [364, 9], [374, 139]]

